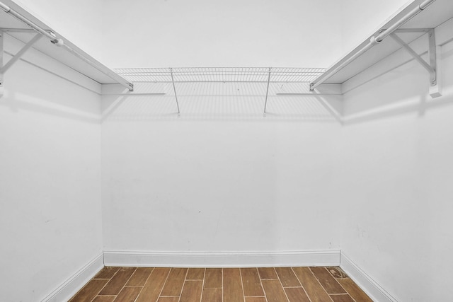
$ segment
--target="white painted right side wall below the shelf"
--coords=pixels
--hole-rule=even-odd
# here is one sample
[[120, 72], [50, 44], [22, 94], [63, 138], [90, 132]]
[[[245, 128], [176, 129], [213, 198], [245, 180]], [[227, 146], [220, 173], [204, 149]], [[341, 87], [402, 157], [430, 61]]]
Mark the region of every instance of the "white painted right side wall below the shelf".
[[453, 283], [452, 42], [441, 67], [442, 98], [416, 62], [344, 96], [341, 248], [398, 301], [449, 301]]

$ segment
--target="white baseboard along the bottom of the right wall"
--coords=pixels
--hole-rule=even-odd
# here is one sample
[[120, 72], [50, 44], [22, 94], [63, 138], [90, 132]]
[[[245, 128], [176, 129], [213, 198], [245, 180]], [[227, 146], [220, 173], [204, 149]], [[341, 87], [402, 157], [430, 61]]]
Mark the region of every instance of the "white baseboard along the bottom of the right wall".
[[382, 286], [369, 277], [367, 273], [358, 267], [342, 251], [340, 256], [340, 267], [346, 274], [372, 298], [374, 302], [398, 302], [394, 296], [391, 296]]

